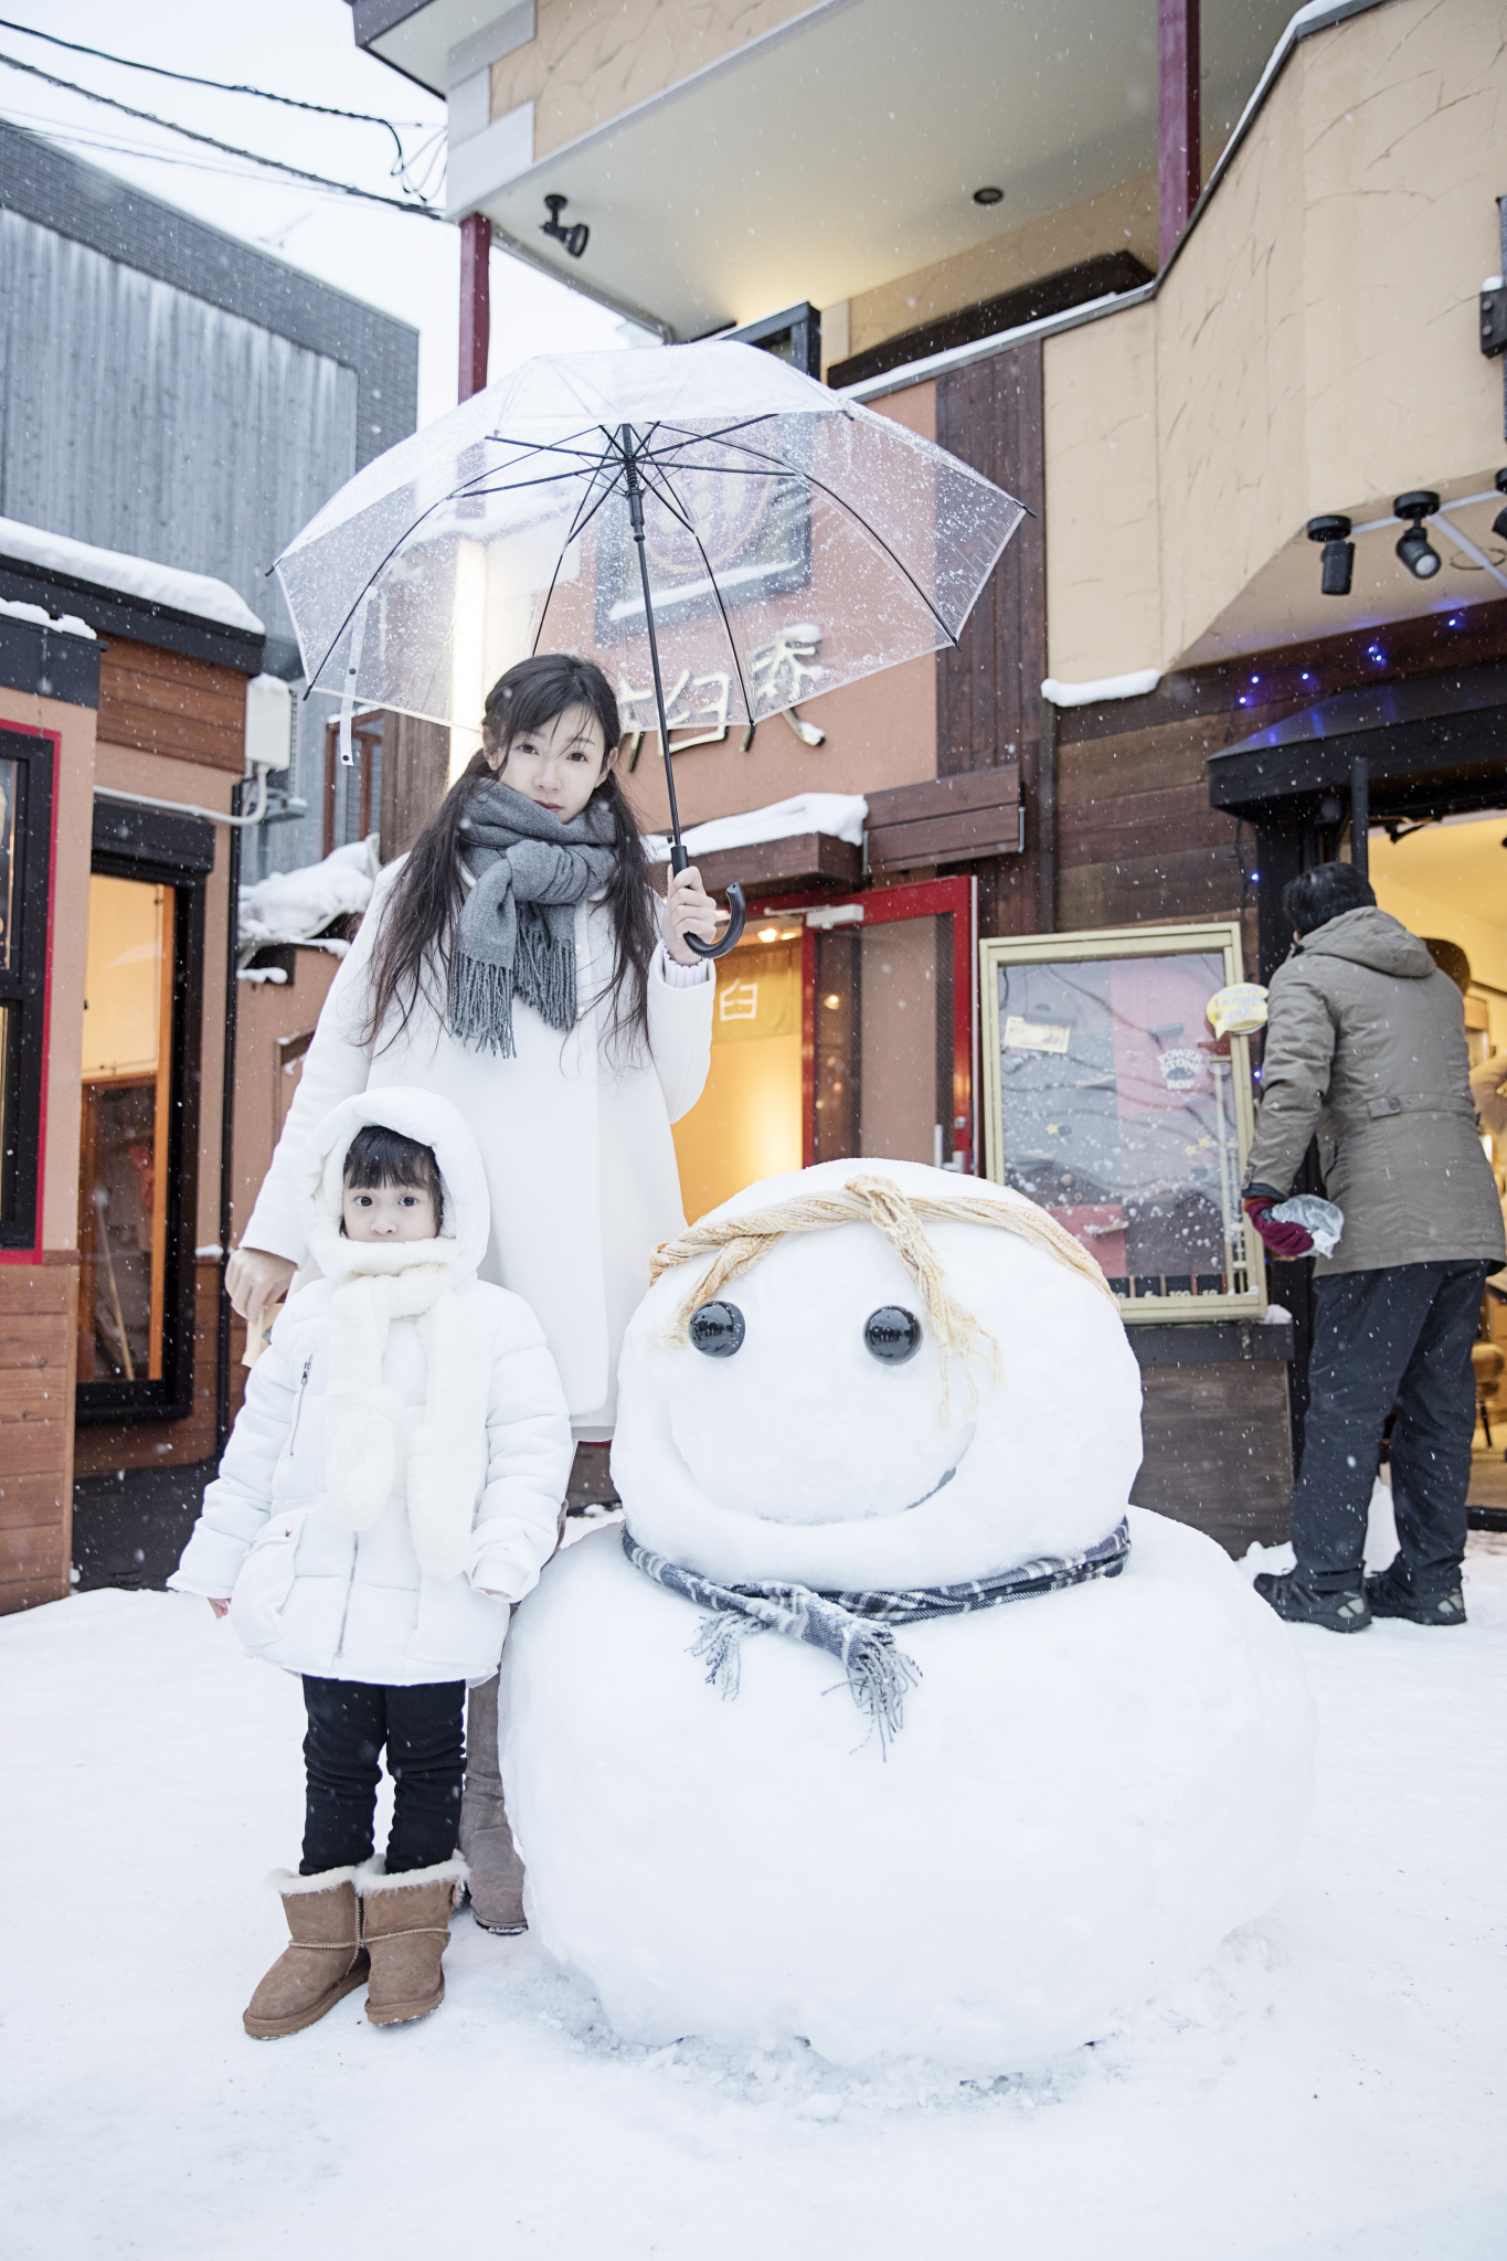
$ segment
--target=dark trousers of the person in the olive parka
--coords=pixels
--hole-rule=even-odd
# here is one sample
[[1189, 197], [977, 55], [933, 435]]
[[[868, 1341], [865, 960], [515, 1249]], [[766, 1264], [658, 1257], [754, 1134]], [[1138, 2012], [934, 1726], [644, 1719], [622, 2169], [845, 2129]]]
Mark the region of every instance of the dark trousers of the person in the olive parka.
[[1367, 1506], [1392, 1406], [1399, 1567], [1423, 1601], [1460, 1583], [1471, 1490], [1471, 1343], [1489, 1264], [1392, 1264], [1315, 1287], [1304, 1467], [1292, 1492], [1297, 1576], [1360, 1585]]

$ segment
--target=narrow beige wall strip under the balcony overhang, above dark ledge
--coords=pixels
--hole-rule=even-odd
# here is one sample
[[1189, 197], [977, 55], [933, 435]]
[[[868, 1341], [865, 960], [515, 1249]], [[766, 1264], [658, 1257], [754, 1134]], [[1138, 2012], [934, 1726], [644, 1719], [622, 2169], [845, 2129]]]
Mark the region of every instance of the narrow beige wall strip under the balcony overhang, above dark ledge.
[[1155, 174], [1125, 181], [1121, 188], [1105, 190], [1103, 197], [1089, 197], [1060, 213], [1044, 213], [1023, 228], [992, 235], [987, 244], [958, 251], [949, 260], [938, 260], [935, 267], [920, 267], [879, 289], [861, 292], [850, 298], [847, 350], [865, 353], [868, 346], [915, 330], [938, 314], [956, 314], [981, 298], [996, 298], [1001, 292], [1019, 289], [1021, 283], [1035, 283], [1037, 276], [1075, 267], [1105, 251], [1134, 251], [1155, 271]]

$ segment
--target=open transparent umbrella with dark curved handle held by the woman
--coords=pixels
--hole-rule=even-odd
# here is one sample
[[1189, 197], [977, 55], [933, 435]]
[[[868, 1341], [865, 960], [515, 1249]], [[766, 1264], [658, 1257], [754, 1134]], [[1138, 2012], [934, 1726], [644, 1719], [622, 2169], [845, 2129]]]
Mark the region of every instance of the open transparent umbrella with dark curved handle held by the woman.
[[[576, 651], [657, 728], [757, 724], [953, 644], [1023, 509], [752, 346], [545, 355], [389, 448], [278, 558], [310, 690], [477, 728]], [[671, 719], [676, 717], [676, 719]], [[732, 925], [705, 956], [732, 947]]]

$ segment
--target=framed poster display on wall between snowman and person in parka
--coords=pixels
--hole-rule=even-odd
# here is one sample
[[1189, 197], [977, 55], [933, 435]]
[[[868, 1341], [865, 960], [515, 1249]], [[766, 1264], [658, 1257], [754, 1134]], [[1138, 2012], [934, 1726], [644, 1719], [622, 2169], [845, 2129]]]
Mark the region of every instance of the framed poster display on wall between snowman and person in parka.
[[1051, 1210], [1127, 1325], [1258, 1318], [1240, 1205], [1249, 1042], [1204, 1006], [1243, 981], [1236, 920], [978, 945], [985, 1176]]

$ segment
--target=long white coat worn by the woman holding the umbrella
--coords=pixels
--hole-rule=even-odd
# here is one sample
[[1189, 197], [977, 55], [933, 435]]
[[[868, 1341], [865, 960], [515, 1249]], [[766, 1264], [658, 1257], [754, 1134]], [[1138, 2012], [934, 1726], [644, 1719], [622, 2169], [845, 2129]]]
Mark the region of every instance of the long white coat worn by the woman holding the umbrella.
[[606, 1056], [612, 918], [603, 902], [576, 904], [576, 1029], [547, 1029], [515, 999], [517, 1054], [497, 1058], [456, 1042], [420, 999], [407, 1029], [361, 1040], [371, 952], [391, 900], [389, 864], [341, 965], [287, 1128], [242, 1232], [244, 1248], [307, 1262], [298, 1219], [296, 1155], [341, 1099], [393, 1083], [450, 1099], [470, 1124], [486, 1167], [493, 1230], [481, 1280], [533, 1307], [554, 1352], [581, 1438], [612, 1433], [624, 1329], [648, 1289], [648, 1257], [685, 1225], [671, 1124], [700, 1099], [712, 1060], [709, 965], [673, 965], [655, 950], [648, 974], [648, 1058]]

